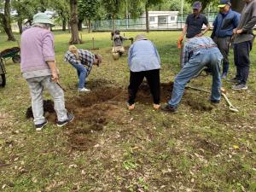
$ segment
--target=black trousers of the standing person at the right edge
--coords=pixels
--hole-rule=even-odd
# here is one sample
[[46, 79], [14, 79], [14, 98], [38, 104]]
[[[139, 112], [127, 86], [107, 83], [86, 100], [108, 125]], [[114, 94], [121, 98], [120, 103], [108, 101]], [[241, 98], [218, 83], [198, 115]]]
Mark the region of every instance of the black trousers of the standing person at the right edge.
[[234, 60], [236, 65], [236, 79], [241, 80], [242, 84], [247, 84], [250, 69], [250, 51], [253, 42], [246, 41], [234, 44]]

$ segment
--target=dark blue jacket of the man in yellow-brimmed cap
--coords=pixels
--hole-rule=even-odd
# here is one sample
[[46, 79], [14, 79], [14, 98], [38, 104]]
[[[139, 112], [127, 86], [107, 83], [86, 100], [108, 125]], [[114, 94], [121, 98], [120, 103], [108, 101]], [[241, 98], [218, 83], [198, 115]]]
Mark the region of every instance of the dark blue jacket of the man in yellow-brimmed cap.
[[240, 14], [230, 9], [227, 14], [219, 13], [213, 22], [212, 36], [225, 38], [232, 36], [233, 29], [238, 26]]

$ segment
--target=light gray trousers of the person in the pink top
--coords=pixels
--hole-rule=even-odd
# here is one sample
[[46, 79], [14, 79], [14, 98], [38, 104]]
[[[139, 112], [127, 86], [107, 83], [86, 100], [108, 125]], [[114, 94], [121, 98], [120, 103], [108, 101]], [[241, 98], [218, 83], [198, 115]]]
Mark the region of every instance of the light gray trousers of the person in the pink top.
[[44, 107], [43, 107], [43, 91], [49, 91], [50, 96], [55, 102], [55, 112], [59, 121], [67, 119], [67, 110], [65, 108], [64, 92], [61, 88], [51, 80], [51, 76], [37, 77], [26, 79], [30, 89], [32, 98], [32, 112], [34, 116], [34, 124], [44, 123]]

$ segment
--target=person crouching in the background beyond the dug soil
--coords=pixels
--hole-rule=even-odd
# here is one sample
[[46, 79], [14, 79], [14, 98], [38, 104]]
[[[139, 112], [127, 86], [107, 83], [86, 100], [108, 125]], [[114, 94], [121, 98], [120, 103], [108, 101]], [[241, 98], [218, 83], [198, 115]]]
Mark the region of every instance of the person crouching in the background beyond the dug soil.
[[123, 46], [123, 42], [125, 40], [133, 41], [133, 38], [125, 38], [120, 35], [119, 30], [115, 32], [111, 32], [111, 40], [113, 40], [113, 48], [112, 48], [112, 56], [114, 60], [118, 60], [119, 56], [125, 53], [125, 48]]

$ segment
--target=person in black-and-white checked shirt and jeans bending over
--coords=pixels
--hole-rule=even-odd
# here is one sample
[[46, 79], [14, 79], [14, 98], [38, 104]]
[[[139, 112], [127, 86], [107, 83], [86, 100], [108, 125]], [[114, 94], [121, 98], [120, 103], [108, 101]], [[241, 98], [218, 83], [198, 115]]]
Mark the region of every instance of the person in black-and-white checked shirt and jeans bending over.
[[86, 78], [90, 74], [93, 65], [99, 67], [102, 63], [102, 55], [94, 55], [88, 50], [77, 49], [76, 46], [70, 45], [65, 55], [65, 61], [68, 61], [77, 69], [79, 76], [79, 92], [89, 92], [86, 88]]

